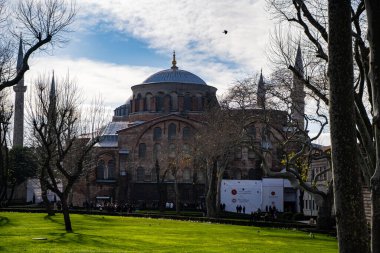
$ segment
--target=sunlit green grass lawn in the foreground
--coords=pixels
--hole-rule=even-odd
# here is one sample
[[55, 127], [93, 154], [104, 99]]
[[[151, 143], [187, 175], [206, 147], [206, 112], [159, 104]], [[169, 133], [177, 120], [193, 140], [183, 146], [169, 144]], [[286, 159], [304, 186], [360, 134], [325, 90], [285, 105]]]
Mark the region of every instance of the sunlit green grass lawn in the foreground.
[[[0, 212], [0, 252], [337, 252], [335, 238], [295, 230], [99, 215]], [[33, 238], [46, 238], [35, 240]]]

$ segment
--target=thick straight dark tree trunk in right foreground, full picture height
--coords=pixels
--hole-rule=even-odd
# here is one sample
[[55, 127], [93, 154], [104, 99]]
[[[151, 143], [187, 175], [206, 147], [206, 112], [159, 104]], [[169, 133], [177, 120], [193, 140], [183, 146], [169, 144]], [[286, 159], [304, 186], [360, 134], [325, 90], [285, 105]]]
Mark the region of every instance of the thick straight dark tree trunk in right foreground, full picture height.
[[369, 252], [356, 158], [351, 2], [329, 0], [330, 128], [340, 252]]

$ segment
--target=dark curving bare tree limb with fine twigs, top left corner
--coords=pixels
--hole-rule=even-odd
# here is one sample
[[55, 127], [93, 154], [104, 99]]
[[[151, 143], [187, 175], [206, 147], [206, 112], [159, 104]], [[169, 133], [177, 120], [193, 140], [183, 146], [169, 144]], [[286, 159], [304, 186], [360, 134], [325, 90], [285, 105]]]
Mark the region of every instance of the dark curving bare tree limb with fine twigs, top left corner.
[[[75, 13], [74, 3], [64, 0], [23, 0], [16, 7], [8, 0], [0, 1], [0, 90], [23, 78], [34, 52], [67, 41], [64, 34], [70, 31]], [[21, 33], [26, 51], [17, 71], [14, 38]]]

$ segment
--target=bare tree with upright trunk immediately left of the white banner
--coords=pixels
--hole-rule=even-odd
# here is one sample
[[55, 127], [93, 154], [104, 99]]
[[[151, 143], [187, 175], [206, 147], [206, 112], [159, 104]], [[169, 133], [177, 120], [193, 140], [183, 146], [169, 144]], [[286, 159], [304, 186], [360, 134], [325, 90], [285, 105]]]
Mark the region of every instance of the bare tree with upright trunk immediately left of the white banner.
[[223, 174], [240, 146], [241, 129], [229, 112], [221, 107], [209, 108], [204, 114], [205, 126], [196, 134], [194, 160], [206, 172], [206, 208], [208, 217], [217, 217]]

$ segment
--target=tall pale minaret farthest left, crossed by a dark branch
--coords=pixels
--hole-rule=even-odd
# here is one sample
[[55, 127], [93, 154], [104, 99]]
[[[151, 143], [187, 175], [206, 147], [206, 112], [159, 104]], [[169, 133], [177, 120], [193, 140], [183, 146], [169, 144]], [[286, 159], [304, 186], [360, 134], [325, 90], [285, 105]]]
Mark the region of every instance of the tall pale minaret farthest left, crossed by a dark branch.
[[[22, 67], [22, 61], [24, 58], [22, 50], [22, 38], [20, 37], [20, 45], [18, 49], [17, 58], [17, 72], [20, 71]], [[15, 92], [15, 114], [13, 123], [13, 147], [24, 146], [24, 93], [26, 91], [26, 86], [24, 86], [24, 77], [13, 86]]]

